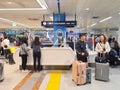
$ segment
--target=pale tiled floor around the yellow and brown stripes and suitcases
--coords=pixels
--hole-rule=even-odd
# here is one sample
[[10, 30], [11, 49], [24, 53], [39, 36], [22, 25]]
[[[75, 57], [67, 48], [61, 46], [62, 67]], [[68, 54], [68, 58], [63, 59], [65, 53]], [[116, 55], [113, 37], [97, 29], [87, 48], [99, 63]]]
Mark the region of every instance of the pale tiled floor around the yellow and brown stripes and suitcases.
[[[4, 81], [0, 83], [0, 90], [13, 90], [13, 88], [28, 74], [21, 72], [18, 65], [4, 65]], [[82, 86], [76, 86], [72, 81], [71, 70], [61, 75], [60, 90], [120, 90], [120, 67], [110, 68], [110, 81], [102, 82], [94, 79], [94, 69], [92, 73], [92, 83]], [[33, 90], [33, 86], [40, 78], [42, 73], [46, 73], [40, 83], [39, 90], [46, 90], [50, 73], [41, 71], [33, 73], [32, 76], [21, 86], [20, 90]]]

